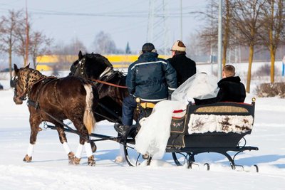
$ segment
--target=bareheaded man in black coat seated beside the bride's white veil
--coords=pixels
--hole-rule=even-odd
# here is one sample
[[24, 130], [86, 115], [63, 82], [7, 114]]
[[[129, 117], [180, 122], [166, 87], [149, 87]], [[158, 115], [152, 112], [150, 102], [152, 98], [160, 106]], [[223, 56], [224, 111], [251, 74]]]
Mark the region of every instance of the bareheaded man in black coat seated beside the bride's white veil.
[[202, 100], [194, 98], [195, 104], [204, 105], [214, 102], [244, 102], [246, 97], [244, 84], [241, 83], [239, 76], [234, 75], [234, 66], [225, 65], [222, 70], [222, 80], [219, 80], [218, 82], [219, 92], [217, 97]]

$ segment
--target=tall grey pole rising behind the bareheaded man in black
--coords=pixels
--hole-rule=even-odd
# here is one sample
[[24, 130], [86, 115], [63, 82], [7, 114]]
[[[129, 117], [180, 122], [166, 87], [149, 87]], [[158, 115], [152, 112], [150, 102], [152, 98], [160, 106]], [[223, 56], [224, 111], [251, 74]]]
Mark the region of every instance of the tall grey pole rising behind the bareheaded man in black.
[[217, 73], [218, 79], [222, 79], [222, 0], [219, 0], [219, 17], [218, 17], [218, 60]]

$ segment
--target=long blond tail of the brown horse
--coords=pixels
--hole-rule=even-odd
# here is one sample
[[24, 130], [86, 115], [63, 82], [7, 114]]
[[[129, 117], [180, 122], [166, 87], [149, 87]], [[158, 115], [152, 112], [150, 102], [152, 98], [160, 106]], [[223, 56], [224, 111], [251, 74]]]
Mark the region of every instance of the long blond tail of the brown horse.
[[93, 105], [93, 90], [92, 86], [85, 84], [84, 88], [86, 90], [86, 107], [83, 115], [83, 123], [88, 130], [88, 134], [93, 131], [95, 126], [95, 117], [93, 115], [92, 105]]

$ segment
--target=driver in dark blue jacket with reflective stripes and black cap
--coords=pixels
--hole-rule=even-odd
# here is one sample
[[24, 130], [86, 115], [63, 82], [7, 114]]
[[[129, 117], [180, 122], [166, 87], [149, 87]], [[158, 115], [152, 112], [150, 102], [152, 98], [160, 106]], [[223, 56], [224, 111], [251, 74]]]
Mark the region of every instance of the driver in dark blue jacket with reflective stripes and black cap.
[[137, 106], [135, 97], [145, 102], [167, 100], [168, 92], [177, 88], [176, 71], [167, 60], [158, 58], [155, 46], [145, 43], [140, 57], [128, 68], [126, 85], [130, 95], [123, 100], [122, 124], [115, 130], [125, 137], [133, 125], [133, 112]]

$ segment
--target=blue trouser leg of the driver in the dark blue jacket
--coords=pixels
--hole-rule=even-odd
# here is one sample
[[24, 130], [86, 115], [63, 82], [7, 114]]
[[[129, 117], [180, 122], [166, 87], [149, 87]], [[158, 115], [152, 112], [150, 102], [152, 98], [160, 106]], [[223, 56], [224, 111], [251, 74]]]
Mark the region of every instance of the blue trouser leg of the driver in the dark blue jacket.
[[122, 107], [123, 125], [133, 125], [133, 112], [135, 107], [137, 107], [137, 102], [135, 102], [135, 97], [133, 97], [133, 95], [128, 95], [124, 98]]

